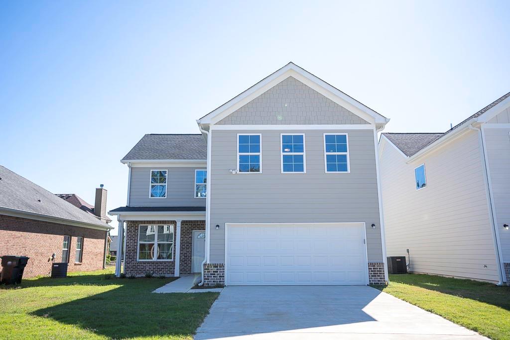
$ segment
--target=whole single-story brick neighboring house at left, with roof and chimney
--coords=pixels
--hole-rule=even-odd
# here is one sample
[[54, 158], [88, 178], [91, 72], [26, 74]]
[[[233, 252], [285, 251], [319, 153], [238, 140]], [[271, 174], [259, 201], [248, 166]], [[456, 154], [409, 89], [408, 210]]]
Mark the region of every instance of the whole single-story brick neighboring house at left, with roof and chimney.
[[[97, 190], [104, 197], [96, 202], [99, 213], [106, 217], [106, 190]], [[69, 263], [68, 271], [102, 269], [112, 228], [101, 217], [0, 166], [0, 255], [29, 256], [24, 277], [47, 275], [53, 253], [56, 262]]]

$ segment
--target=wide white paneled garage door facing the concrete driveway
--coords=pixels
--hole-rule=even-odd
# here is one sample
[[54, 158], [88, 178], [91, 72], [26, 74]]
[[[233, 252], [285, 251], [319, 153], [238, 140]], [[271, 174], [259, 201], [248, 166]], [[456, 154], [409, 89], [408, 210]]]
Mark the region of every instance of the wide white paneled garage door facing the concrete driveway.
[[226, 224], [227, 285], [367, 284], [363, 223]]

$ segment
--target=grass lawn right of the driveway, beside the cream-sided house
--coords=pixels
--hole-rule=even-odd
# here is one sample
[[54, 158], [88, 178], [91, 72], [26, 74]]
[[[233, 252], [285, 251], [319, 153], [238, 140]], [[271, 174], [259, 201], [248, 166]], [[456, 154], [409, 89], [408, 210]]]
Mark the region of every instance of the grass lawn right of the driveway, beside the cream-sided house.
[[510, 287], [435, 275], [390, 275], [377, 287], [493, 339], [510, 339]]

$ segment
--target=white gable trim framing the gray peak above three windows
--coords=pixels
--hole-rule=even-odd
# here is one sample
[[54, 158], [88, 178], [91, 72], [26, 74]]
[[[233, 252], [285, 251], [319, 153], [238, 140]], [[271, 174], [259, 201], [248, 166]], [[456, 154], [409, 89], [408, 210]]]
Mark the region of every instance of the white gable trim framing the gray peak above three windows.
[[271, 73], [257, 84], [254, 84], [247, 90], [241, 92], [231, 100], [228, 100], [220, 107], [203, 116], [202, 118], [197, 120], [197, 123], [198, 124], [216, 123], [217, 121], [223, 119], [224, 117], [228, 116], [232, 112], [242, 107], [247, 102], [251, 101], [252, 99], [258, 97], [260, 94], [269, 90], [276, 84], [287, 79], [289, 76], [293, 76], [298, 81], [311, 87], [312, 89], [316, 90], [317, 92], [321, 93], [327, 98], [339, 103], [342, 107], [345, 107], [347, 110], [353, 112], [356, 115], [359, 115], [361, 118], [365, 120], [368, 121], [372, 120], [373, 123], [383, 126], [389, 121], [388, 118], [370, 109], [369, 107], [365, 106], [358, 100], [355, 100], [354, 98], [345, 94], [339, 89], [324, 82], [319, 77], [290, 62], [284, 67]]

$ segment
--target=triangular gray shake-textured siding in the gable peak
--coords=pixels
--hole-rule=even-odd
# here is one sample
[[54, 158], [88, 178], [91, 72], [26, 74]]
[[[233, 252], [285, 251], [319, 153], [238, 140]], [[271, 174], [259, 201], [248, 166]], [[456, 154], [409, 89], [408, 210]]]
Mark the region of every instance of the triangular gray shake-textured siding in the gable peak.
[[293, 77], [275, 85], [217, 124], [368, 124]]

